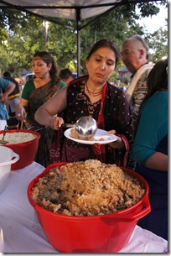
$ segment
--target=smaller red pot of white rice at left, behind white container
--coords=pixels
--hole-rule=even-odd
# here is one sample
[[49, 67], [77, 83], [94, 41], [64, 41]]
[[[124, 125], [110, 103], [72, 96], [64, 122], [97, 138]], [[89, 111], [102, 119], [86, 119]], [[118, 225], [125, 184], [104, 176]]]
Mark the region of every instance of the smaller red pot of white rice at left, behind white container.
[[[36, 135], [36, 138], [19, 144], [5, 144], [3, 146], [13, 149], [13, 151], [19, 154], [19, 160], [17, 163], [11, 166], [11, 170], [18, 170], [34, 162], [35, 155], [38, 151], [40, 134], [31, 130], [8, 130], [7, 133], [32, 133]], [[0, 134], [3, 131], [0, 131]]]

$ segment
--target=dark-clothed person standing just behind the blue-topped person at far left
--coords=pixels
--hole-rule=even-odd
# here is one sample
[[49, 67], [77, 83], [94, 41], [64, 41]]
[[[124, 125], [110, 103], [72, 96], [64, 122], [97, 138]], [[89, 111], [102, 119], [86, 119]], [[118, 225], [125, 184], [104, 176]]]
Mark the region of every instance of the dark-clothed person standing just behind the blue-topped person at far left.
[[11, 76], [11, 73], [9, 71], [5, 71], [3, 73], [3, 78], [9, 81], [13, 81], [13, 83], [15, 84], [14, 90], [8, 95], [7, 108], [9, 119], [7, 120], [7, 123], [8, 128], [18, 128], [18, 119], [15, 116], [15, 108], [20, 102], [19, 85], [18, 82], [15, 81], [15, 79]]

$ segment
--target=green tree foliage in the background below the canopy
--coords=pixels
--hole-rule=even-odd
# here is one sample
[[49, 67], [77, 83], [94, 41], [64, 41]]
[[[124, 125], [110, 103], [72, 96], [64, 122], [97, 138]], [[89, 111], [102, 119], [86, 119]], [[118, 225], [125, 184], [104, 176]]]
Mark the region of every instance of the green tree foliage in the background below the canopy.
[[[101, 38], [108, 38], [115, 42], [120, 50], [122, 41], [140, 34], [147, 40], [153, 50], [153, 61], [157, 62], [163, 55], [168, 55], [168, 29], [159, 28], [154, 34], [148, 34], [145, 28], [137, 24], [142, 17], [153, 16], [159, 11], [159, 5], [167, 6], [167, 1], [162, 0], [152, 3], [125, 4], [106, 13], [101, 18], [96, 18], [88, 26], [85, 24], [94, 18], [81, 21], [80, 27], [80, 70], [81, 75], [86, 73], [85, 58], [92, 44]], [[139, 14], [137, 14], [137, 8]], [[48, 50], [59, 66], [59, 70], [69, 67], [76, 71], [77, 60], [77, 33], [75, 29], [66, 29], [60, 24], [75, 28], [75, 21], [54, 18], [54, 23], [49, 23], [48, 36], [42, 18], [37, 18], [29, 13], [16, 10], [0, 9], [0, 75], [3, 71], [12, 71], [19, 76], [23, 70], [31, 71], [31, 59], [36, 51]], [[168, 24], [168, 21], [166, 21]], [[122, 61], [119, 66], [123, 65]], [[111, 81], [117, 81], [117, 71], [111, 76]]]

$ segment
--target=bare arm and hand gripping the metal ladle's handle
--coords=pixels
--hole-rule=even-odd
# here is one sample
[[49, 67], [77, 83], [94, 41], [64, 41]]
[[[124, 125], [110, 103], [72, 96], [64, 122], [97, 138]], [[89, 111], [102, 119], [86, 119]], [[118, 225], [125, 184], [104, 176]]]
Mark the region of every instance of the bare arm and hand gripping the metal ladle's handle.
[[51, 97], [48, 102], [45, 102], [44, 105], [38, 108], [34, 115], [38, 123], [54, 129], [60, 128], [64, 121], [62, 118], [58, 118], [56, 114], [67, 107], [66, 91], [67, 87], [62, 88], [54, 97]]

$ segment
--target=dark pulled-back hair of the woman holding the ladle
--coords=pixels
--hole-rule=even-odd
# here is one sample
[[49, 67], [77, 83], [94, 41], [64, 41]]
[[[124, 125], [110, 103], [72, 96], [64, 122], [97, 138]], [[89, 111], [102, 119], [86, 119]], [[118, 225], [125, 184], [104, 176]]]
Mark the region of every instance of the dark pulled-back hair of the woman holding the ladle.
[[89, 55], [86, 57], [86, 60], [90, 60], [91, 55], [96, 52], [96, 50], [100, 49], [101, 47], [108, 47], [111, 50], [114, 51], [115, 55], [116, 55], [116, 65], [115, 68], [117, 67], [117, 63], [119, 61], [120, 55], [119, 55], [119, 51], [117, 50], [117, 46], [109, 39], [100, 39], [99, 41], [97, 41], [91, 48]]

